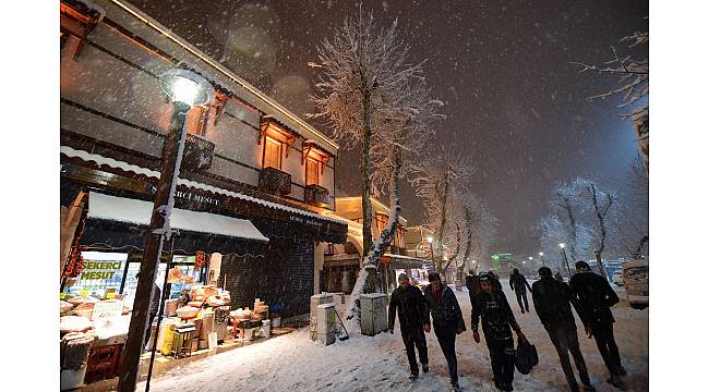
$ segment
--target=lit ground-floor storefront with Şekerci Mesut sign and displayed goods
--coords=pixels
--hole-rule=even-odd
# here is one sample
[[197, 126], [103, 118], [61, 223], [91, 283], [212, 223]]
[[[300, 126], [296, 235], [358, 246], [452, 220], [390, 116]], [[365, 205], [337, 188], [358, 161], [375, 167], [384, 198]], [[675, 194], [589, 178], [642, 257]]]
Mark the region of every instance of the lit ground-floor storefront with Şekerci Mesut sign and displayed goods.
[[[93, 336], [83, 370], [62, 368], [62, 380], [79, 383], [118, 373], [154, 181], [100, 170], [95, 160], [101, 158], [93, 159], [64, 162], [61, 179], [62, 205], [82, 206], [60, 292], [62, 350]], [[275, 320], [308, 314], [314, 244], [346, 238], [341, 222], [223, 191], [178, 187], [171, 215], [177, 233], [164, 248], [155, 281], [166, 301], [161, 327], [152, 333], [166, 358], [208, 350], [212, 333], [214, 344], [230, 346], [266, 336]], [[180, 328], [188, 328], [191, 340]]]

